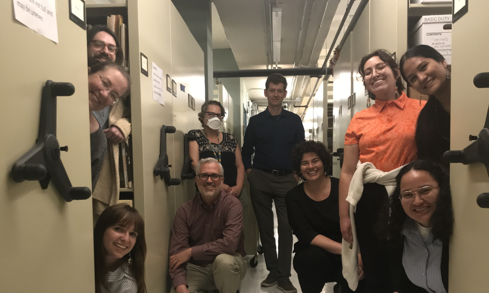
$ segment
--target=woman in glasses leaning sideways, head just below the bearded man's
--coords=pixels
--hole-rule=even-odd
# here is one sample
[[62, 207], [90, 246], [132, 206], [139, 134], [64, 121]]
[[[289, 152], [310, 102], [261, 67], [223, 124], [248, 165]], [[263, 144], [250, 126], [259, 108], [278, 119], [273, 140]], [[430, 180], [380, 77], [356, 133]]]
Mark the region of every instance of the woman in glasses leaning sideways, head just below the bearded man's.
[[92, 111], [119, 103], [129, 91], [131, 78], [126, 70], [112, 62], [96, 63], [89, 67], [89, 115], [92, 190], [99, 179], [107, 138]]

